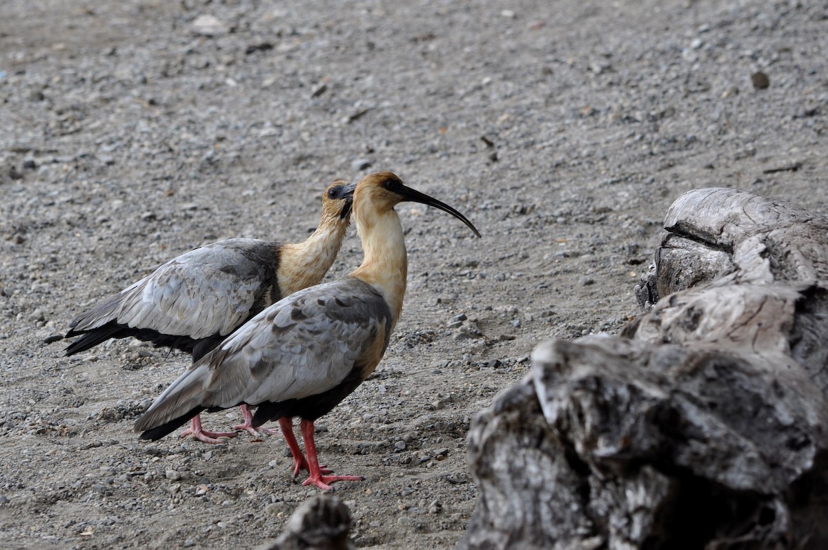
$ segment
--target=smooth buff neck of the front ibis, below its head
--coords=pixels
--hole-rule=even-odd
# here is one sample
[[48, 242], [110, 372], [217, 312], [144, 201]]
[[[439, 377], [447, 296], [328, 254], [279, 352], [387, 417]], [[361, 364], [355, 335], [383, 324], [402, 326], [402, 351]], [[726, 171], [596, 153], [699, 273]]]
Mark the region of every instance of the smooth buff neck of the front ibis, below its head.
[[363, 263], [351, 273], [382, 292], [391, 309], [392, 328], [402, 313], [406, 293], [408, 258], [400, 218], [392, 208], [383, 213], [357, 216], [357, 232], [362, 239]]

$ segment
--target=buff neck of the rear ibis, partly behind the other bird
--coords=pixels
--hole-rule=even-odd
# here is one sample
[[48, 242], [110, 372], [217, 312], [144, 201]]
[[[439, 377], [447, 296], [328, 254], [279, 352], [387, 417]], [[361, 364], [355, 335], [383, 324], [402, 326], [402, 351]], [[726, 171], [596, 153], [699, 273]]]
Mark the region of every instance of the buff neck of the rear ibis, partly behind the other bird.
[[320, 221], [304, 243], [284, 244], [279, 253], [277, 277], [282, 297], [319, 284], [333, 265], [348, 224], [335, 219]]

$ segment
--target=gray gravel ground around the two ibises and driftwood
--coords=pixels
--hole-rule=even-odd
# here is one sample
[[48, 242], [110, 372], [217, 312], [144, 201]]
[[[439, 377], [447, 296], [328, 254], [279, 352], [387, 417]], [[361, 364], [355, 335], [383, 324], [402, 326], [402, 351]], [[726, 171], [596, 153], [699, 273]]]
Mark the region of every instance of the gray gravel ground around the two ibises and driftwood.
[[402, 319], [317, 438], [367, 478], [336, 486], [360, 548], [453, 547], [469, 419], [538, 342], [638, 315], [681, 192], [828, 211], [824, 2], [329, 4], [3, 2], [0, 547], [248, 548], [315, 494], [281, 437], [137, 440], [186, 356], [42, 342], [201, 244], [304, 239], [337, 178], [395, 171], [484, 234], [397, 209]]

